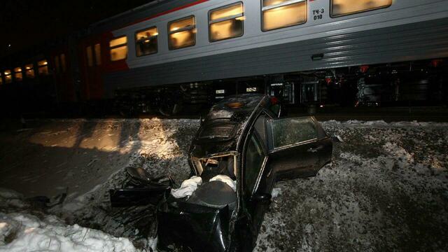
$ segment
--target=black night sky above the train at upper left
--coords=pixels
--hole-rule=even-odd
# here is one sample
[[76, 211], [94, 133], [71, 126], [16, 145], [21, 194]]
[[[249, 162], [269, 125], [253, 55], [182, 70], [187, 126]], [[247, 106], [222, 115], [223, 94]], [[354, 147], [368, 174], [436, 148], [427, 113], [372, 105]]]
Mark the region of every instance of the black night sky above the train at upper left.
[[153, 0], [0, 1], [0, 57], [25, 50]]

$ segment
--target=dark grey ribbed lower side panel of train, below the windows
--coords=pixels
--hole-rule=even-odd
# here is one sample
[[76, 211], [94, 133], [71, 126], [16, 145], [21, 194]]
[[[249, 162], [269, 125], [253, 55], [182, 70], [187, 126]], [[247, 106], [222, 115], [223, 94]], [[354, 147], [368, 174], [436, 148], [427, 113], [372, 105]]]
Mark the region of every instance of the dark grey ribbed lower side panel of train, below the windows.
[[105, 86], [112, 97], [116, 88], [437, 57], [448, 57], [448, 18], [143, 66], [109, 73]]

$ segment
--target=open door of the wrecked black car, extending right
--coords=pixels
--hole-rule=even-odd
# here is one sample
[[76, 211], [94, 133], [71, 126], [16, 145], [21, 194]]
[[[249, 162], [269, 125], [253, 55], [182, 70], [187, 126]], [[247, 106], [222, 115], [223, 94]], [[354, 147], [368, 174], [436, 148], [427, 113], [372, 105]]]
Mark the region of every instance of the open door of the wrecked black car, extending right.
[[269, 165], [276, 179], [316, 176], [330, 162], [332, 141], [312, 116], [267, 120]]

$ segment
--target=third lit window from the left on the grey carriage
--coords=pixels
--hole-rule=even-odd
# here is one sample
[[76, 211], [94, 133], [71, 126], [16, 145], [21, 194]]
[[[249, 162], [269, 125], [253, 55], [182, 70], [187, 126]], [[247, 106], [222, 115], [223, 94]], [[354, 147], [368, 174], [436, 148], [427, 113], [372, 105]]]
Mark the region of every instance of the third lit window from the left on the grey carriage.
[[168, 23], [169, 50], [186, 48], [196, 44], [195, 16]]

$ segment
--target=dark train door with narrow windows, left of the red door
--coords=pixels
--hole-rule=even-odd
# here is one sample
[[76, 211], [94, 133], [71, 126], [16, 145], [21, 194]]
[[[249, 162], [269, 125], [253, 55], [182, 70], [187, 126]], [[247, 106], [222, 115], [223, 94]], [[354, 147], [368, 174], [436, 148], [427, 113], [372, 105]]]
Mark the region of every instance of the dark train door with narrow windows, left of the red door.
[[54, 50], [51, 55], [53, 78], [57, 92], [57, 101], [62, 104], [75, 102], [73, 78], [71, 76], [70, 55], [68, 48]]

